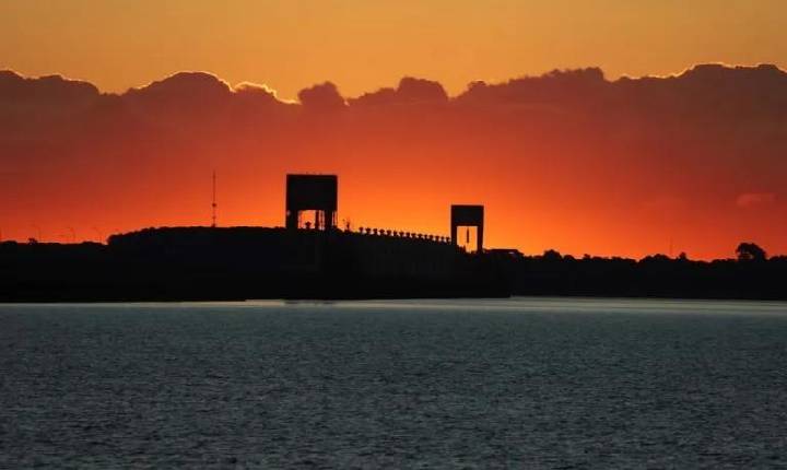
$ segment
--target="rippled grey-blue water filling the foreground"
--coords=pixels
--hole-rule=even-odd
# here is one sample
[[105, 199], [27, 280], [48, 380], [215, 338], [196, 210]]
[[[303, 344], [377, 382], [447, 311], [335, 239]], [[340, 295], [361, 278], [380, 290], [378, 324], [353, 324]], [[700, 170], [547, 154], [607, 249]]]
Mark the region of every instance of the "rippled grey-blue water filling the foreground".
[[787, 304], [0, 305], [0, 467], [787, 466]]

